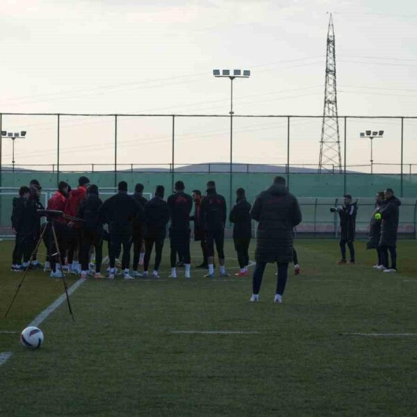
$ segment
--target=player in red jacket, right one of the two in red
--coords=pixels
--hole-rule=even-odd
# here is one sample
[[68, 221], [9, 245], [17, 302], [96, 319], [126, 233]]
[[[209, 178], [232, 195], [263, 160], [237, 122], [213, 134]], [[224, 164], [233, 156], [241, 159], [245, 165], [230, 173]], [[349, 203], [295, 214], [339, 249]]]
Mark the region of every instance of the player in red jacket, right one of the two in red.
[[[87, 177], [79, 177], [79, 186], [76, 190], [71, 190], [70, 196], [68, 197], [67, 204], [65, 205], [65, 214], [71, 215], [72, 217], [76, 217], [76, 213], [79, 209], [81, 202], [85, 199], [87, 195], [88, 187], [90, 186], [90, 180]], [[78, 223], [69, 223], [69, 226], [74, 227], [74, 229], [79, 229]], [[70, 250], [68, 251], [67, 263], [69, 266], [69, 272], [74, 273], [81, 273], [81, 265], [78, 261], [79, 256], [77, 256], [77, 260], [74, 261], [74, 252], [75, 250], [81, 249], [81, 234], [79, 234], [79, 238], [76, 239], [76, 243], [72, 245]]]

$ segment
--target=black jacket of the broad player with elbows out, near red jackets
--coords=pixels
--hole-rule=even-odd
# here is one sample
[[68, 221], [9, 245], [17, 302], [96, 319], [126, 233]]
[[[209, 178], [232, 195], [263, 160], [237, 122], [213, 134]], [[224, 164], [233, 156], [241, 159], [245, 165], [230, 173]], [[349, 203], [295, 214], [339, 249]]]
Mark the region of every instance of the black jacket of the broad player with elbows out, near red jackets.
[[127, 193], [117, 193], [99, 208], [101, 222], [108, 224], [110, 233], [131, 234], [132, 222], [140, 215], [139, 204]]

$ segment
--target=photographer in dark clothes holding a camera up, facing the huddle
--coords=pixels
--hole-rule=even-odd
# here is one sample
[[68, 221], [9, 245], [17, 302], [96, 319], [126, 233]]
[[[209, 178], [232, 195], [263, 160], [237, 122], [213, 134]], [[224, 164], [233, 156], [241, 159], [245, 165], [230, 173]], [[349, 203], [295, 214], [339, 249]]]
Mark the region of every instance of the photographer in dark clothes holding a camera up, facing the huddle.
[[356, 230], [356, 216], [357, 216], [357, 202], [352, 203], [352, 195], [346, 194], [343, 196], [343, 206], [330, 208], [332, 213], [338, 213], [341, 219], [341, 247], [342, 259], [337, 261], [338, 265], [346, 263], [346, 243], [350, 252], [350, 263], [354, 263], [354, 234]]

